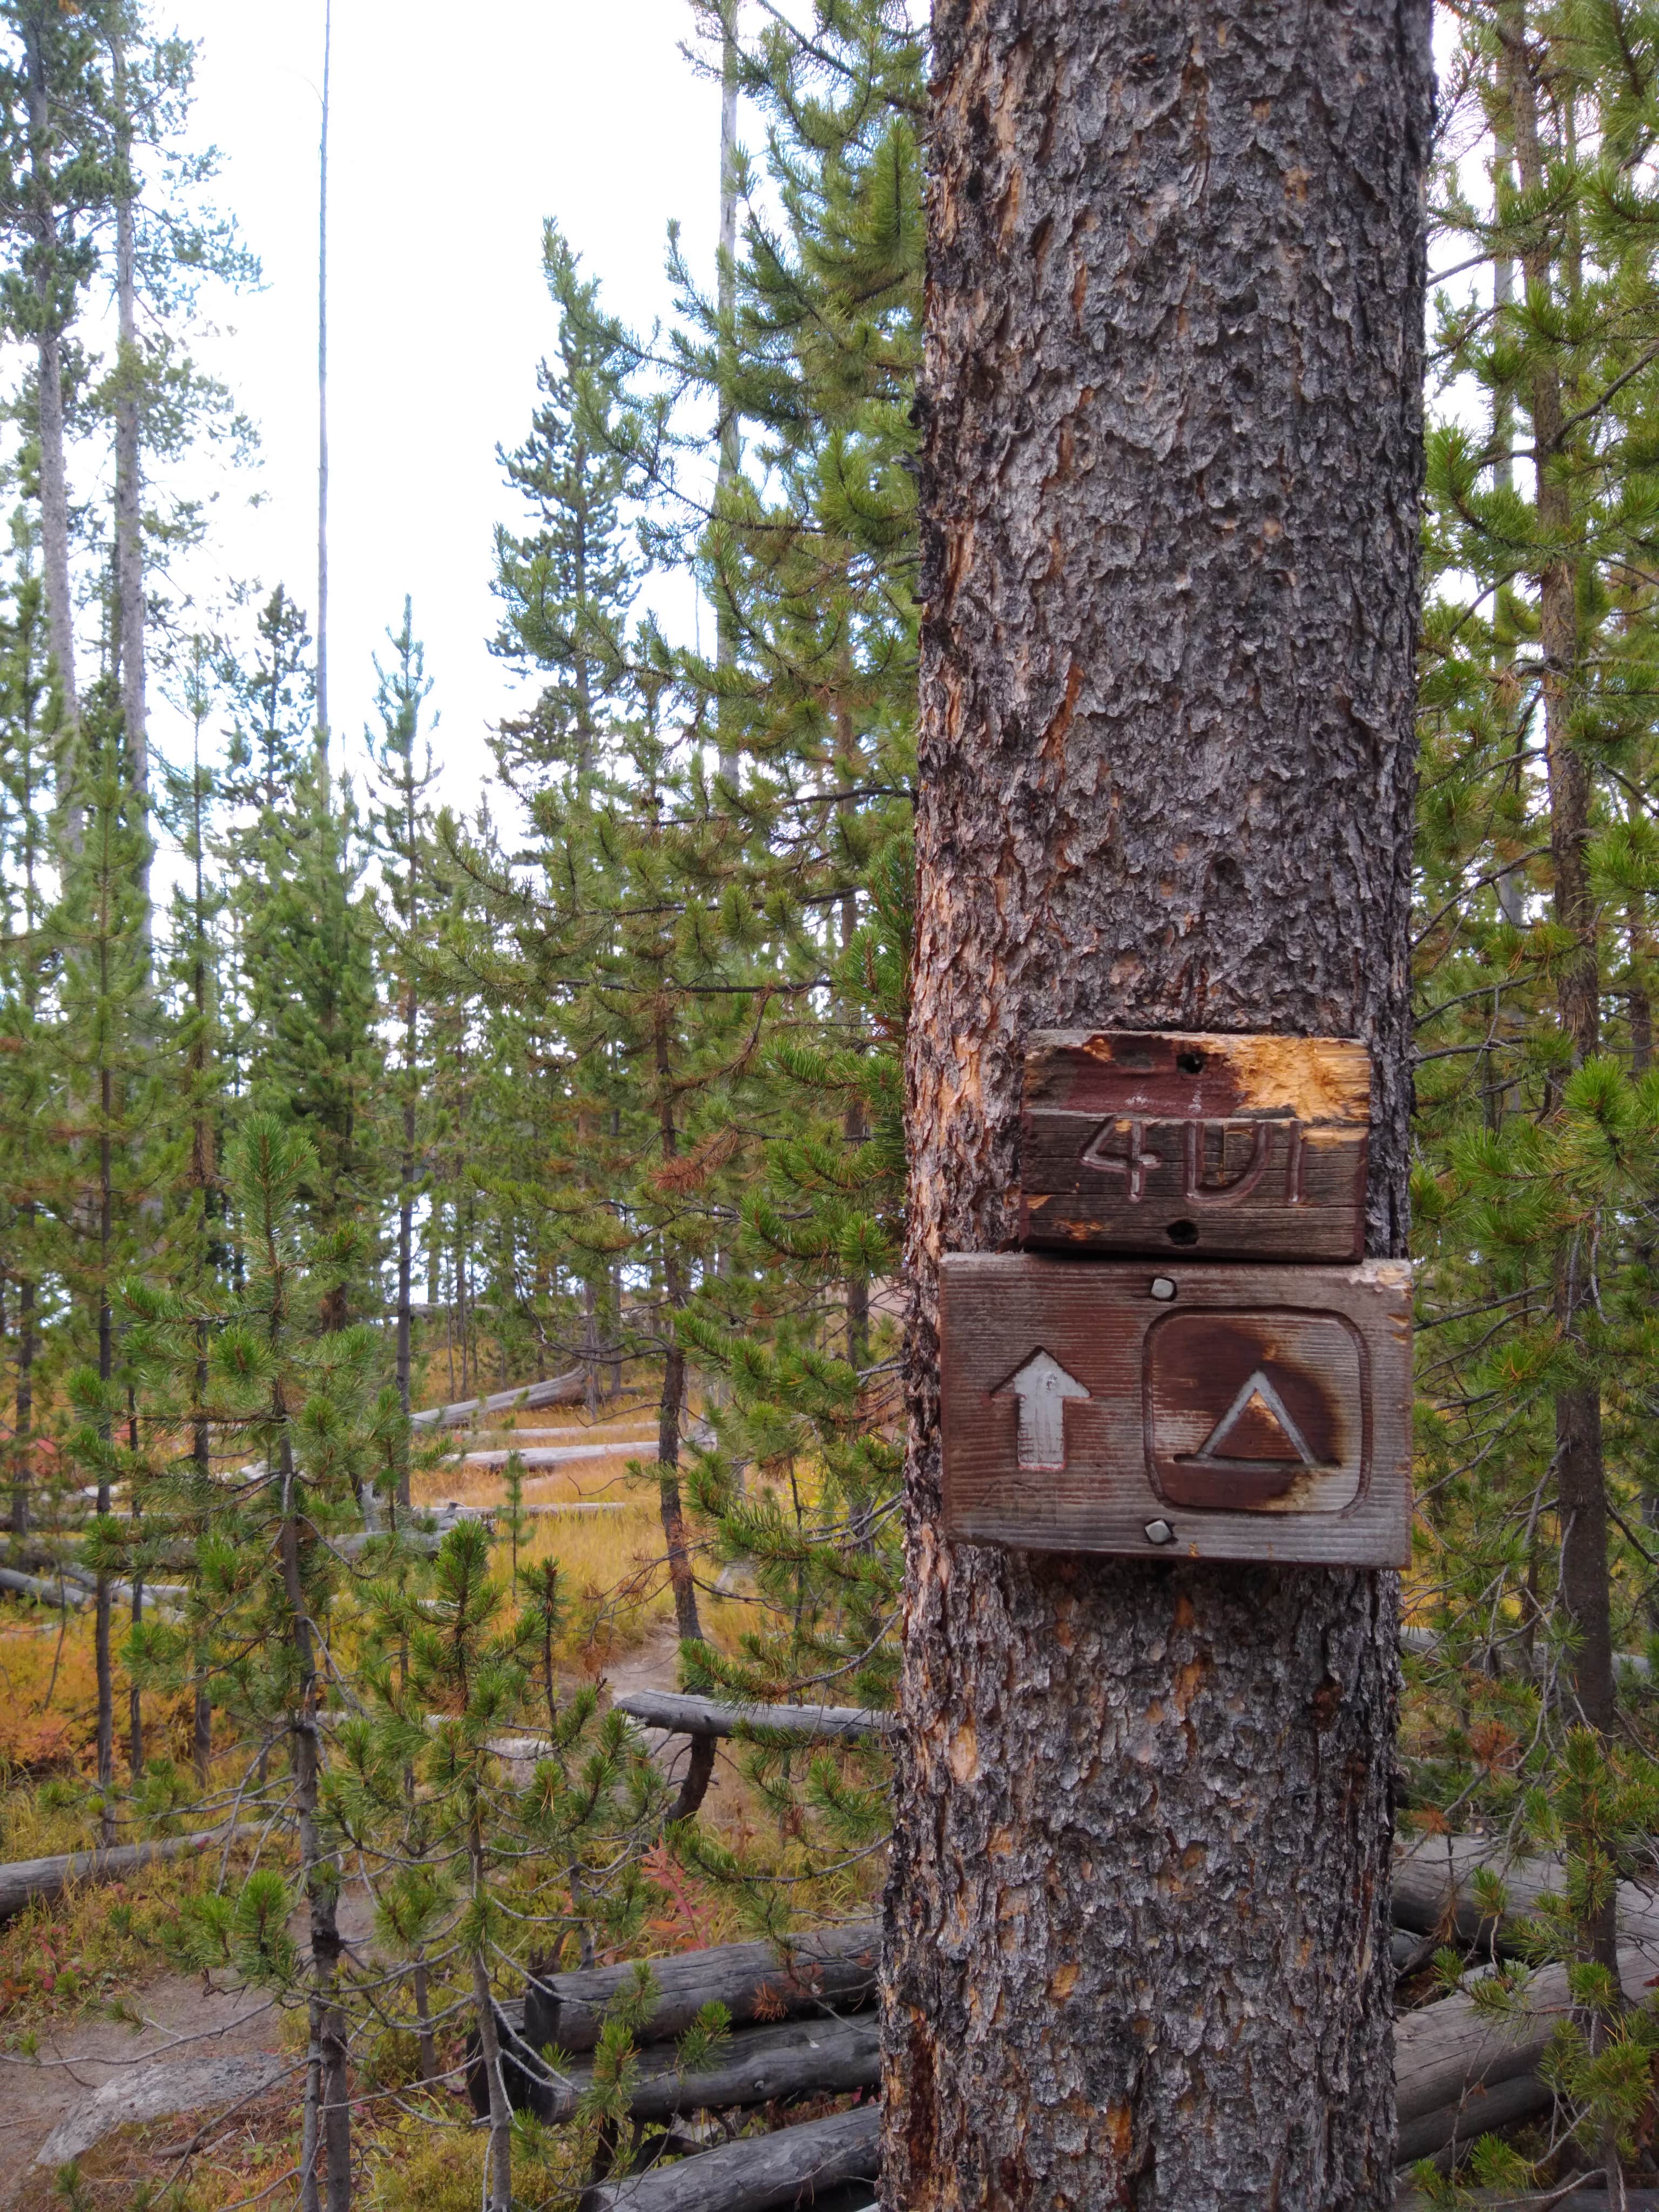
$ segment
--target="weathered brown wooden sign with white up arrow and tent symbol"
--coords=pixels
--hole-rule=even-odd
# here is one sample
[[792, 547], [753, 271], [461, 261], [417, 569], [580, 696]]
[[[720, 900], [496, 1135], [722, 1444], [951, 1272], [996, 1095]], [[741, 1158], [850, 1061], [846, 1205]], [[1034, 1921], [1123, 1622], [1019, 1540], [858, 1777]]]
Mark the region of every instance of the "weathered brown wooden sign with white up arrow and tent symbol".
[[1130, 1557], [1402, 1566], [1411, 1272], [962, 1252], [945, 1528]]

